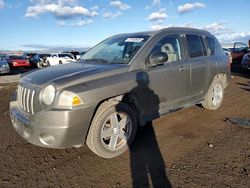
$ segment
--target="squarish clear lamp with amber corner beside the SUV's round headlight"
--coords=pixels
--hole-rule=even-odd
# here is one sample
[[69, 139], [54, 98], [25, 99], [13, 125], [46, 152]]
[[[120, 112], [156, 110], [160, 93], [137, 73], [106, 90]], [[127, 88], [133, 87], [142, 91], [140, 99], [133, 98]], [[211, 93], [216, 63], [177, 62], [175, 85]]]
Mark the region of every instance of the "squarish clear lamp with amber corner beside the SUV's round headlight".
[[63, 91], [59, 96], [58, 105], [60, 107], [72, 107], [80, 104], [83, 104], [83, 102], [75, 93]]

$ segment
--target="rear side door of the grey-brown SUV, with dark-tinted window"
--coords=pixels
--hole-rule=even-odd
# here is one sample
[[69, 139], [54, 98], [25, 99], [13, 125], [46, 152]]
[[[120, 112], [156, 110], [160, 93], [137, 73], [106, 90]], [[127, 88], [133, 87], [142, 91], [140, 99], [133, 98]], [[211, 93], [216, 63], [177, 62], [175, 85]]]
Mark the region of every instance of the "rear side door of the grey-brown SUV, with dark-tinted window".
[[190, 101], [199, 101], [207, 92], [210, 84], [210, 75], [214, 64], [213, 57], [209, 55], [205, 37], [195, 34], [186, 35], [187, 58], [190, 62]]

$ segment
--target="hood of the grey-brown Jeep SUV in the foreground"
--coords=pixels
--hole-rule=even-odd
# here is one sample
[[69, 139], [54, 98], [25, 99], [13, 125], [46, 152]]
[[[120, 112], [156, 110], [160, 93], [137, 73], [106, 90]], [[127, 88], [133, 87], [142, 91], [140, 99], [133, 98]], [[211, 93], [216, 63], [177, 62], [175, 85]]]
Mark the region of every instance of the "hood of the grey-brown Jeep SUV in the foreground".
[[61, 87], [77, 84], [76, 82], [82, 83], [98, 77], [116, 74], [122, 71], [123, 68], [128, 69], [128, 66], [121, 64], [70, 63], [24, 74], [20, 82], [40, 87], [53, 83], [60, 89]]

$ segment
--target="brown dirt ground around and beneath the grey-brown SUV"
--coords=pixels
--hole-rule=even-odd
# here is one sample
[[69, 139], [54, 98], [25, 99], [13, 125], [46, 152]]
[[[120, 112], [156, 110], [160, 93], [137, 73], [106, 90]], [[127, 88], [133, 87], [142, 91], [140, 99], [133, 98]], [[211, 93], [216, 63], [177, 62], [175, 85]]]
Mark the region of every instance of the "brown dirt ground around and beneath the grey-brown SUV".
[[250, 128], [224, 121], [250, 118], [250, 74], [235, 70], [219, 110], [194, 106], [162, 116], [113, 159], [87, 146], [55, 150], [24, 141], [8, 112], [16, 83], [1, 82], [0, 187], [249, 188]]

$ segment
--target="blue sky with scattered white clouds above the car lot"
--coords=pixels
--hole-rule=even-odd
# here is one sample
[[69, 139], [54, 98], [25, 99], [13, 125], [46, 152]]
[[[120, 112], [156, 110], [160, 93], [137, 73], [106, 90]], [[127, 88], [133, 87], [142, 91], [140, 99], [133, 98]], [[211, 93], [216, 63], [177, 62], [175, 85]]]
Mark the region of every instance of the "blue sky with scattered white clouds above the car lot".
[[0, 49], [91, 47], [124, 32], [165, 27], [250, 39], [249, 0], [0, 0]]

